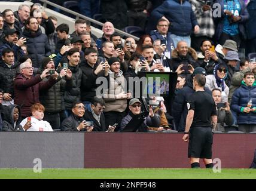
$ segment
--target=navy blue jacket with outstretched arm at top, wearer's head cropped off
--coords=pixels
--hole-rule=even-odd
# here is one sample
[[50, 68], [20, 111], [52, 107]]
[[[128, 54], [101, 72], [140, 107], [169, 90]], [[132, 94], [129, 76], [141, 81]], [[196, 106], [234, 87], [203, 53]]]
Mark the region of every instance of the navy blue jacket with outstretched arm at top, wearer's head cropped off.
[[151, 15], [154, 20], [166, 17], [170, 21], [169, 31], [178, 36], [189, 36], [196, 26], [197, 20], [190, 2], [179, 0], [164, 1]]

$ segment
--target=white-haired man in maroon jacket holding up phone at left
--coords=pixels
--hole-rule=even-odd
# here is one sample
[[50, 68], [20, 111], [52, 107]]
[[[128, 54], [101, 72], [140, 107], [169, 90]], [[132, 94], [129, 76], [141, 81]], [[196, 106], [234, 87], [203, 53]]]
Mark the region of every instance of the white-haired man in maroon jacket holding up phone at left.
[[49, 71], [50, 69], [45, 69], [41, 75], [32, 76], [32, 64], [29, 62], [20, 64], [20, 75], [14, 80], [14, 104], [20, 106], [22, 119], [31, 116], [32, 104], [39, 103], [39, 91], [48, 90], [57, 82], [57, 72], [54, 72], [49, 80], [42, 81], [50, 75]]

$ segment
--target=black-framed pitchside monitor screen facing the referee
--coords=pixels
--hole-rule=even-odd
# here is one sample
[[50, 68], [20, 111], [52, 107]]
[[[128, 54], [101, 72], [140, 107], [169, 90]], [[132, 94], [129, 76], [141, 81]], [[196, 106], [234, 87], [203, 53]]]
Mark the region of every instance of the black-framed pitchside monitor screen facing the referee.
[[173, 72], [138, 72], [139, 78], [145, 77], [145, 79], [147, 79], [147, 83], [141, 85], [143, 95], [170, 96], [170, 75], [172, 73]]

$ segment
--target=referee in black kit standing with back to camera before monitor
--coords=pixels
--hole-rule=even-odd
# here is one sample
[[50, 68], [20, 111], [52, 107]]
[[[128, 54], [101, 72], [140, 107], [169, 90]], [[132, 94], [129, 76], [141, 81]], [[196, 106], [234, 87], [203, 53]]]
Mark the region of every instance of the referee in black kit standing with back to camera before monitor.
[[205, 75], [197, 74], [195, 76], [193, 88], [196, 93], [187, 103], [188, 115], [182, 140], [187, 142], [189, 134], [188, 158], [190, 158], [191, 168], [200, 168], [200, 158], [205, 162], [206, 168], [213, 167], [212, 128], [217, 125], [217, 108], [212, 96], [203, 89], [205, 82]]

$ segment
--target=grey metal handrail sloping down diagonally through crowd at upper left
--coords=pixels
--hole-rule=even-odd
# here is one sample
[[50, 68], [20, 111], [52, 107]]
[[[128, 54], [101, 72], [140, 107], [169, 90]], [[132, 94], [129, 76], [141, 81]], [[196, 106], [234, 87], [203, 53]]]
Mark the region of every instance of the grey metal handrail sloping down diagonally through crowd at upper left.
[[[69, 10], [69, 9], [67, 9], [67, 8], [65, 8], [65, 7], [62, 7], [62, 6], [60, 6], [60, 5], [54, 4], [53, 2], [50, 2], [50, 1], [47, 1], [47, 0], [39, 0], [39, 1], [41, 1], [41, 2], [44, 3], [44, 4], [42, 5], [44, 8], [46, 8], [46, 5], [48, 4], [48, 5], [51, 5], [51, 6], [53, 6], [53, 7], [59, 8], [60, 10], [66, 11], [66, 12], [71, 13], [71, 14], [74, 14], [74, 16], [76, 16], [76, 19], [78, 19], [79, 17], [81, 17], [82, 19], [89, 20], [90, 22], [95, 23], [95, 24], [98, 24], [99, 26], [103, 26], [103, 24], [104, 24], [104, 23], [102, 23], [102, 22], [100, 22], [100, 21], [97, 21], [97, 20], [95, 20], [95, 19], [92, 19], [92, 18], [90, 18], [90, 17], [86, 17], [86, 16], [84, 16], [83, 14], [77, 13], [77, 12], [75, 12], [75, 11], [72, 11], [72, 10]], [[114, 29], [115, 29], [115, 32], [120, 33], [121, 35], [128, 36], [128, 37], [132, 37], [132, 38], [134, 38], [136, 41], [139, 40], [139, 38], [138, 38], [137, 36], [130, 35], [129, 33], [126, 33], [126, 32], [124, 32], [123, 30], [120, 30], [120, 29], [116, 29], [116, 28], [114, 28]]]

